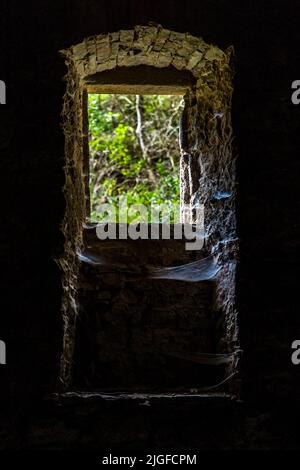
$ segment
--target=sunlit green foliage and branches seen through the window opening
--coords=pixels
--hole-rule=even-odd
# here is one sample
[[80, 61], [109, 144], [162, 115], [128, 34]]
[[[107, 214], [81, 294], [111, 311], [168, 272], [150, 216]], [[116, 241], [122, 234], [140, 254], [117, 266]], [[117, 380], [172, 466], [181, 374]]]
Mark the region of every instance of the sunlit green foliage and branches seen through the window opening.
[[[89, 147], [91, 218], [103, 203], [179, 203], [177, 96], [90, 94]], [[140, 127], [138, 121], [140, 117]]]

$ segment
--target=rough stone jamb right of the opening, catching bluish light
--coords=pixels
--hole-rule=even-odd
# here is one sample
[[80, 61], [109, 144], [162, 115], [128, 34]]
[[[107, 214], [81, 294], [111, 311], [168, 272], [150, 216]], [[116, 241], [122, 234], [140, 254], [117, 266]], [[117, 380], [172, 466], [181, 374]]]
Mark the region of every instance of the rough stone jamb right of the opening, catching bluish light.
[[[238, 252], [236, 235], [236, 155], [231, 125], [232, 49], [223, 67], [208, 63], [211, 79], [200, 77], [197, 87], [186, 97], [185, 139], [182, 148], [184, 203], [191, 208], [204, 205], [205, 250], [218, 258], [215, 313], [222, 352], [239, 349], [235, 299], [235, 272]], [[238, 356], [228, 367], [228, 375], [238, 369]], [[235, 391], [237, 389], [235, 388]]]

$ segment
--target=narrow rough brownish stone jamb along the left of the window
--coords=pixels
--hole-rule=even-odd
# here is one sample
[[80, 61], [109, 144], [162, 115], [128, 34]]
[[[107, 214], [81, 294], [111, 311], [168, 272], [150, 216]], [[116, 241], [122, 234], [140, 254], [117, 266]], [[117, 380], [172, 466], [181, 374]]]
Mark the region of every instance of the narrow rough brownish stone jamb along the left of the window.
[[83, 93], [77, 71], [68, 69], [62, 112], [65, 135], [65, 185], [66, 210], [62, 223], [65, 238], [64, 253], [57, 262], [62, 270], [64, 341], [61, 358], [61, 380], [70, 383], [78, 314], [77, 290], [79, 265], [77, 253], [82, 248], [82, 225], [85, 221], [85, 188], [83, 178]]

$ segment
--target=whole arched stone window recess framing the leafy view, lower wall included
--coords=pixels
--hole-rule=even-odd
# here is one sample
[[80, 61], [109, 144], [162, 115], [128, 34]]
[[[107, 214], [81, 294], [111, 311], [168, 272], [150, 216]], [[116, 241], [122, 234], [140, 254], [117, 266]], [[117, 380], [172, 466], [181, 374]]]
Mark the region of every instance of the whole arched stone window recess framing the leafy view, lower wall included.
[[[235, 308], [232, 49], [224, 52], [201, 38], [158, 25], [87, 38], [63, 54], [68, 67], [63, 108], [66, 213], [62, 225], [65, 252], [59, 261], [64, 291], [61, 379], [65, 388], [126, 393], [215, 390], [237, 395], [240, 349]], [[197, 204], [204, 204], [205, 246], [200, 260], [208, 263], [204, 277], [189, 283], [191, 303], [183, 299], [184, 284], [176, 284], [178, 279], [174, 284], [169, 277], [163, 285], [152, 279], [152, 287], [156, 282], [154, 295], [150, 288], [147, 292], [150, 284], [143, 269], [131, 272], [133, 277], [127, 279], [130, 269], [122, 258], [124, 247], [119, 245], [117, 260], [115, 253], [112, 257], [112, 247], [107, 253], [97, 252], [95, 227], [86, 223], [90, 207], [86, 119], [89, 92], [185, 97], [181, 201], [191, 211]], [[129, 257], [138, 256], [144, 265], [149, 260], [153, 264], [156, 252], [165, 250], [165, 264], [160, 268], [175, 263], [175, 267], [189, 264], [191, 269], [198, 269], [199, 256], [187, 260], [186, 252], [178, 246], [174, 250], [167, 244], [146, 247], [136, 243], [134, 248], [126, 249]], [[108, 271], [103, 268], [105, 256]], [[218, 269], [207, 278], [212, 259], [214, 263], [217, 260]], [[115, 270], [111, 269], [114, 264]], [[97, 274], [92, 271], [95, 266], [99, 268]], [[195, 277], [195, 270], [191, 276]], [[91, 286], [96, 285], [99, 295], [91, 303]], [[132, 290], [120, 289], [124, 285], [132, 286]], [[152, 302], [162, 293], [172, 304], [169, 310]], [[100, 314], [95, 312], [95, 302]], [[180, 302], [185, 318], [178, 319], [176, 305]], [[140, 305], [145, 306], [143, 312]], [[151, 318], [147, 317], [149, 305]], [[191, 326], [193, 321], [196, 326]]]

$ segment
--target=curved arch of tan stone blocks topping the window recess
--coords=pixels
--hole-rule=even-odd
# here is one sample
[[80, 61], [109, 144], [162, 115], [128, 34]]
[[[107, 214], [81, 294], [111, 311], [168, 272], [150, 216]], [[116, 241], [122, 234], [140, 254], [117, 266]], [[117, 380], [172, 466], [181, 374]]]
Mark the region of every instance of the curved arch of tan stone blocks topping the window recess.
[[231, 56], [231, 49], [224, 52], [202, 38], [161, 25], [92, 36], [61, 52], [73, 62], [81, 82], [89, 75], [118, 67], [148, 65], [189, 71], [200, 80], [198, 86], [230, 69]]

